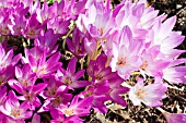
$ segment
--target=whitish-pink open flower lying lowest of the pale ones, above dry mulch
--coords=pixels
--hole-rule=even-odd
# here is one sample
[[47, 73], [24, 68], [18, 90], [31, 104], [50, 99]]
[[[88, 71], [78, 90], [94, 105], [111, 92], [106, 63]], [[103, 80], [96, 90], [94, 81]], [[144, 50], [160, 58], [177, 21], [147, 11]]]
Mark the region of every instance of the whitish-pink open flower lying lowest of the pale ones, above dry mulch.
[[143, 102], [150, 107], [160, 107], [162, 106], [160, 100], [166, 97], [164, 94], [166, 90], [166, 84], [162, 82], [144, 86], [143, 79], [138, 79], [138, 83], [129, 90], [129, 99], [135, 106], [140, 106]]

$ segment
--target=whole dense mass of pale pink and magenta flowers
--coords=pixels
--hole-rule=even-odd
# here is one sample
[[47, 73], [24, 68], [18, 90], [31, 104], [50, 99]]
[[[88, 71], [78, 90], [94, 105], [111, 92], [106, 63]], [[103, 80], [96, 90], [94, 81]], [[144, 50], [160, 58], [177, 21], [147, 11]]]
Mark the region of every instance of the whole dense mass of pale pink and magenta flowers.
[[[162, 106], [167, 90], [163, 79], [186, 83], [186, 66], [179, 65], [186, 60], [177, 59], [185, 51], [175, 49], [185, 37], [172, 30], [176, 16], [158, 14], [146, 0], [123, 0], [116, 7], [109, 0], [51, 5], [1, 0], [0, 35], [5, 39], [0, 44], [0, 122], [39, 123], [39, 114], [50, 112], [51, 123], [81, 123], [91, 109], [105, 113], [107, 100], [125, 107], [121, 95], [127, 91], [135, 106]], [[34, 47], [14, 54], [10, 36], [33, 39]], [[58, 51], [60, 37], [73, 54], [67, 69]], [[133, 87], [123, 86], [136, 73], [143, 78]], [[144, 85], [147, 76], [154, 83]], [[163, 114], [170, 122], [186, 122], [184, 113]]]

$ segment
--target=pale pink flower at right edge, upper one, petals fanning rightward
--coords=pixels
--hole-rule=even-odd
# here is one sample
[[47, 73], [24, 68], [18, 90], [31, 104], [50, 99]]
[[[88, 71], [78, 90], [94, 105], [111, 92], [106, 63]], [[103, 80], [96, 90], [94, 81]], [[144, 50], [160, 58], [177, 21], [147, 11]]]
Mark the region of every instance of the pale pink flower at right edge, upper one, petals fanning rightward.
[[[156, 21], [153, 25], [154, 36], [150, 37], [153, 45], [160, 45], [160, 51], [164, 54], [164, 58], [174, 59], [181, 53], [182, 50], [174, 49], [184, 41], [184, 36], [181, 36], [181, 32], [172, 32], [176, 23], [176, 16], [172, 16], [163, 23]], [[163, 54], [161, 56], [163, 58]]]

